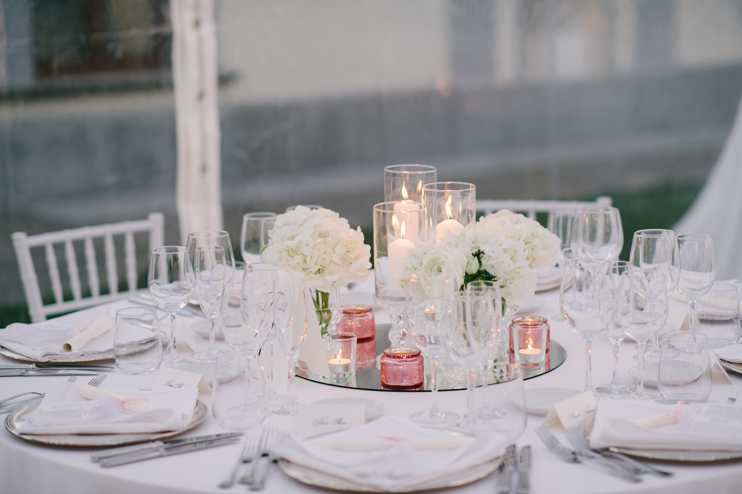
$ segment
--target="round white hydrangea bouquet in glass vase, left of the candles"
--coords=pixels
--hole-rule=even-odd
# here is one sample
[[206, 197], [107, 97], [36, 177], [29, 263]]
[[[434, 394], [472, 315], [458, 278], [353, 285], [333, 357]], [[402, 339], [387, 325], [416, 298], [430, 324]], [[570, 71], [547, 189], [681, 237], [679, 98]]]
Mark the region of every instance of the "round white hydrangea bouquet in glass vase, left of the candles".
[[[339, 320], [338, 291], [351, 281], [369, 277], [371, 247], [364, 244], [361, 228], [352, 230], [348, 220], [327, 209], [297, 206], [276, 217], [264, 261], [280, 261], [302, 273], [312, 291], [322, 333]], [[334, 296], [332, 296], [334, 294]], [[333, 321], [335, 319], [335, 321]]]

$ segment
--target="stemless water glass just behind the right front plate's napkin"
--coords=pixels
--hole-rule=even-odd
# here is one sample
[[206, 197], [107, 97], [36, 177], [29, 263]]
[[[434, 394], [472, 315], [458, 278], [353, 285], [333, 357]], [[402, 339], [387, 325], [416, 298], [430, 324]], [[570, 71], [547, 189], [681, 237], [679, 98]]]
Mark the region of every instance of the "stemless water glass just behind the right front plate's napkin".
[[714, 363], [710, 353], [706, 335], [687, 331], [667, 333], [660, 347], [660, 378], [657, 381], [663, 398], [706, 401], [711, 394]]

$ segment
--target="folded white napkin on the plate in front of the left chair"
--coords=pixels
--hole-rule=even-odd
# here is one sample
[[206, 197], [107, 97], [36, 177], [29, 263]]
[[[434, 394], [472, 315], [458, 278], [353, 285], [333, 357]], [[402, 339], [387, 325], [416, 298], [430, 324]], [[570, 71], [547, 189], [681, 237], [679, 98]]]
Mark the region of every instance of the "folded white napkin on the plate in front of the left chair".
[[[51, 361], [59, 357], [81, 358], [93, 353], [107, 352], [114, 355], [114, 332], [109, 307], [93, 307], [49, 321], [36, 324], [16, 322], [0, 330], [0, 345], [36, 361]], [[104, 324], [108, 318], [109, 324]], [[88, 329], [96, 330], [96, 337], [89, 331], [79, 330], [92, 321]], [[108, 329], [105, 329], [105, 328]], [[102, 331], [102, 333], [101, 333]], [[87, 339], [88, 341], [82, 342]], [[72, 351], [65, 351], [65, 344], [73, 343]], [[85, 345], [82, 348], [82, 345]]]

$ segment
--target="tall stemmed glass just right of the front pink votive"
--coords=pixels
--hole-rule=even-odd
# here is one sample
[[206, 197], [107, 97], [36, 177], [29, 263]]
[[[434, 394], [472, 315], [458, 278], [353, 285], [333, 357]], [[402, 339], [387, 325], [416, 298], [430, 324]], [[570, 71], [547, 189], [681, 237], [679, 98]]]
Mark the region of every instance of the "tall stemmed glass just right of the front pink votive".
[[[446, 273], [436, 273], [429, 280], [433, 293], [445, 298], [458, 286], [455, 279]], [[433, 369], [430, 371], [431, 403], [424, 412], [410, 415], [413, 421], [421, 424], [448, 424], [459, 419], [458, 413], [444, 412], [439, 406], [438, 398], [438, 365], [443, 350], [443, 306], [444, 300], [427, 296], [424, 280], [413, 274], [407, 283], [407, 298], [404, 305], [404, 326], [407, 328], [407, 341], [420, 349], [424, 356], [430, 358]]]

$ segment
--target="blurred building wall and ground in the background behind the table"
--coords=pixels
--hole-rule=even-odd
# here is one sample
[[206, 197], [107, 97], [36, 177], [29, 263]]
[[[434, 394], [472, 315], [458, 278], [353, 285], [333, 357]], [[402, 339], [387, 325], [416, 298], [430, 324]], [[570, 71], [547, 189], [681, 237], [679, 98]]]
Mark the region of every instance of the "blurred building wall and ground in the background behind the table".
[[[689, 207], [742, 92], [741, 0], [216, 0], [214, 17], [235, 247], [244, 213], [292, 204], [370, 232], [401, 163], [478, 198], [613, 196], [630, 241]], [[14, 231], [159, 210], [180, 243], [175, 134], [168, 1], [0, 0], [0, 327], [27, 320]]]

